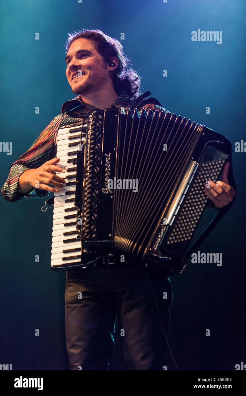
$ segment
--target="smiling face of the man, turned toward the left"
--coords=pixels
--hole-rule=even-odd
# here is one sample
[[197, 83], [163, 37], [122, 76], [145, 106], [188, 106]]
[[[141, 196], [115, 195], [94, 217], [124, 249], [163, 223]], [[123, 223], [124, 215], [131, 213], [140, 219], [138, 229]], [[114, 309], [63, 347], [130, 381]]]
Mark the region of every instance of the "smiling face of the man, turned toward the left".
[[109, 80], [106, 63], [97, 52], [94, 42], [86, 38], [72, 42], [66, 55], [66, 64], [66, 76], [73, 93], [96, 92]]

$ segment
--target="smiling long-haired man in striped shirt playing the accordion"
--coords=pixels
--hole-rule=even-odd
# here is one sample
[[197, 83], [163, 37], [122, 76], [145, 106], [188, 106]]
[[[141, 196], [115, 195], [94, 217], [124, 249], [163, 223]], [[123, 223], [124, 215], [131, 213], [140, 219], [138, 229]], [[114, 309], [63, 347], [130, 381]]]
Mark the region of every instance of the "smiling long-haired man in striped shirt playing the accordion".
[[[62, 187], [64, 180], [54, 173], [61, 172], [59, 158], [54, 158], [57, 131], [82, 120], [70, 116], [72, 108], [127, 107], [140, 93], [140, 78], [135, 70], [127, 69], [129, 59], [121, 44], [100, 30], [81, 30], [69, 35], [66, 52], [66, 76], [73, 93], [79, 96], [62, 105], [62, 113], [11, 165], [2, 187], [6, 200], [42, 197]], [[151, 103], [142, 109], [167, 112]], [[235, 195], [227, 180], [228, 167], [229, 164], [224, 167], [222, 180], [217, 184], [210, 181], [210, 191], [205, 191], [216, 209], [229, 204]], [[107, 369], [116, 315], [125, 369], [162, 370], [172, 302], [168, 275], [162, 267], [149, 266], [143, 270], [129, 263], [109, 266], [99, 263], [95, 268], [68, 270], [65, 320], [70, 370]], [[163, 298], [165, 292], [167, 299]]]

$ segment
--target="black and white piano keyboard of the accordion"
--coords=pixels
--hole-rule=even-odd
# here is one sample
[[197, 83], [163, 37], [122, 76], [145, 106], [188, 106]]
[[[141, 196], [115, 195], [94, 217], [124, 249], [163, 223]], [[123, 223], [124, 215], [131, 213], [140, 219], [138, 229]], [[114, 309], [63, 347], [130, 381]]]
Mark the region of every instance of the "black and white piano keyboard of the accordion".
[[[85, 125], [86, 127], [87, 125]], [[81, 262], [81, 240], [77, 230], [77, 209], [74, 206], [76, 190], [76, 158], [81, 149], [81, 125], [60, 128], [57, 135], [57, 158], [62, 172], [57, 172], [66, 183], [55, 192], [51, 245], [51, 267], [66, 268], [67, 264]], [[82, 133], [81, 142], [85, 140]]]

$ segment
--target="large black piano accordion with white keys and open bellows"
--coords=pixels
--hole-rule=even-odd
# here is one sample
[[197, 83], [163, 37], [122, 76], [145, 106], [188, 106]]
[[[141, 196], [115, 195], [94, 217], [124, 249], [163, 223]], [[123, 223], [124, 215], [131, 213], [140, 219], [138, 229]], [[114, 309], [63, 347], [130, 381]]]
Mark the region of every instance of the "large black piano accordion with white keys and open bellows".
[[121, 257], [182, 268], [208, 201], [203, 183], [219, 179], [229, 154], [219, 133], [158, 110], [93, 109], [61, 127], [52, 269]]

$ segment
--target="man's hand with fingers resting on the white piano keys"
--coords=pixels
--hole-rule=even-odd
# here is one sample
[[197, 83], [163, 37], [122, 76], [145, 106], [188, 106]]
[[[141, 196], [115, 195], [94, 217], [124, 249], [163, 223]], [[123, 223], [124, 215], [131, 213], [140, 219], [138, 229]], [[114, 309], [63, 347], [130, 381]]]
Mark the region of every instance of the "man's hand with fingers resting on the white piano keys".
[[[51, 173], [54, 171], [62, 171], [62, 168], [55, 165], [59, 161], [60, 158], [53, 158], [52, 160], [45, 162], [39, 168], [26, 169], [26, 171], [19, 177], [18, 191], [24, 194], [25, 192], [30, 191], [32, 187], [37, 190], [46, 190], [51, 192], [59, 191], [59, 187], [61, 188], [65, 181], [61, 177]], [[48, 184], [54, 187], [50, 187]]]

